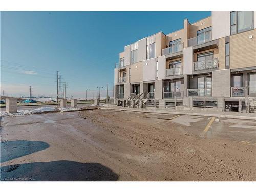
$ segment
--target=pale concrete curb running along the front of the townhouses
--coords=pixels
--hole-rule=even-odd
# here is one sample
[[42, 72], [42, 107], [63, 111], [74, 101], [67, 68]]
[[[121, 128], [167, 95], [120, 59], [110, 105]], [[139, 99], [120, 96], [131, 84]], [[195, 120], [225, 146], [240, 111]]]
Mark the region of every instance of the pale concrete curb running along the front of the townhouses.
[[224, 118], [232, 118], [232, 119], [245, 119], [245, 120], [256, 120], [255, 117], [247, 117], [247, 116], [238, 116], [238, 115], [224, 115], [224, 114], [207, 114], [207, 113], [193, 113], [193, 112], [173, 112], [173, 111], [147, 111], [147, 110], [136, 110], [136, 109], [116, 109], [116, 108], [100, 108], [100, 109], [110, 109], [110, 110], [122, 110], [122, 111], [133, 111], [133, 112], [142, 112], [142, 113], [162, 113], [162, 114], [177, 114], [177, 115], [195, 115], [195, 116], [210, 116], [210, 117], [224, 117]]

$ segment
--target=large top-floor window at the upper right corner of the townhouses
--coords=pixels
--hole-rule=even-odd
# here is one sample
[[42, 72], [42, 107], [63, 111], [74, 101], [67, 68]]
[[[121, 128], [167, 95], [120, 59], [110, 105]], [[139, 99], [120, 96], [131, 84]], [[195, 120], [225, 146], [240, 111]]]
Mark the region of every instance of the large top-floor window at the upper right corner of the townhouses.
[[253, 11], [230, 12], [230, 34], [237, 34], [253, 29]]

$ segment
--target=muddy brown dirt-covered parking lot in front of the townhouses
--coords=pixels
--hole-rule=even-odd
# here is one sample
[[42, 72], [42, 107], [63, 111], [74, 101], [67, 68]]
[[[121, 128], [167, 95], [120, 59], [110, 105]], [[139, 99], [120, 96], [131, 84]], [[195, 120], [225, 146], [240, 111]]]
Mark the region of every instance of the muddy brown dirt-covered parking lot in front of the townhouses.
[[255, 146], [250, 120], [106, 109], [4, 117], [1, 180], [255, 181]]

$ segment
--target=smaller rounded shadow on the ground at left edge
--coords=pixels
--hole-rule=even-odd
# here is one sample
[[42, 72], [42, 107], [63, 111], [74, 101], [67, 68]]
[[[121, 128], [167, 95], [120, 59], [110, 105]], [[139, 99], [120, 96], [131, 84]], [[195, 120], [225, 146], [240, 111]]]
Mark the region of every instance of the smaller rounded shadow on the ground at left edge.
[[4, 141], [1, 142], [1, 163], [45, 150], [50, 145], [42, 141]]

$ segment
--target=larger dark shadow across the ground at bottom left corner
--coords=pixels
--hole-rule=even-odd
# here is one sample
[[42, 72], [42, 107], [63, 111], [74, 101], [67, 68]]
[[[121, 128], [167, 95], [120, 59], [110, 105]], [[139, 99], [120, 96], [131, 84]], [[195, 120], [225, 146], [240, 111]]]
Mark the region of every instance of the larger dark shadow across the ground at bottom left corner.
[[1, 167], [1, 180], [12, 178], [26, 181], [117, 181], [119, 176], [99, 163], [51, 161]]

